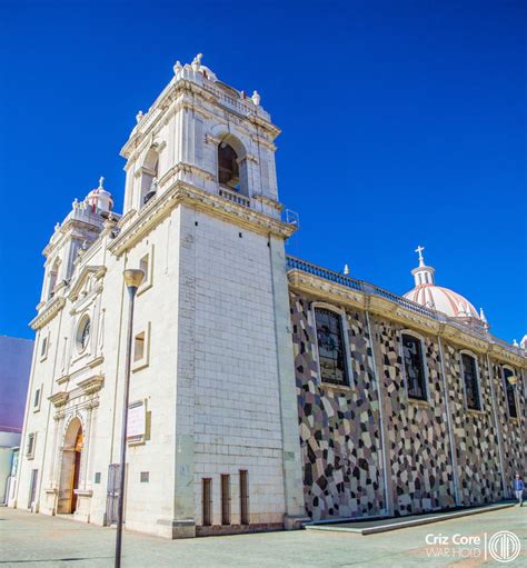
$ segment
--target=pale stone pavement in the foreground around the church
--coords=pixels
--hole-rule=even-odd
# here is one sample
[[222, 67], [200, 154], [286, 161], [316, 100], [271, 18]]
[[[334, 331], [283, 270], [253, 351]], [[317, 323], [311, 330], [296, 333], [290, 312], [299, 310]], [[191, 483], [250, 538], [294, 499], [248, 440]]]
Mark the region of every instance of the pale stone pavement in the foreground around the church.
[[[480, 546], [427, 545], [427, 535], [483, 538], [485, 532], [515, 532], [521, 554], [513, 562], [485, 560]], [[60, 517], [0, 509], [0, 568], [111, 567], [113, 529]], [[526, 566], [527, 507], [453, 519], [391, 532], [280, 531], [188, 540], [165, 540], [125, 532], [123, 568], [422, 568]], [[430, 537], [428, 537], [430, 539]], [[468, 557], [467, 557], [468, 556]]]

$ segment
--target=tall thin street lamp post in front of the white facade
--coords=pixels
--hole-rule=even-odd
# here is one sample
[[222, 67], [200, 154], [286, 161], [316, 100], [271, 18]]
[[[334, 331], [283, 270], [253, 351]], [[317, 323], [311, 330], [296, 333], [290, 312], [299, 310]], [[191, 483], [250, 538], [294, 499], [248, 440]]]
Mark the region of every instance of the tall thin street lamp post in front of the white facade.
[[119, 501], [117, 512], [117, 537], [116, 537], [116, 568], [121, 566], [121, 545], [122, 545], [122, 511], [125, 506], [125, 466], [127, 459], [127, 429], [128, 429], [128, 398], [130, 390], [130, 360], [132, 345], [132, 327], [133, 327], [133, 303], [136, 292], [145, 278], [145, 272], [138, 269], [128, 269], [123, 272], [125, 285], [130, 297], [130, 309], [128, 313], [128, 335], [127, 335], [127, 358], [125, 363], [125, 400], [122, 405], [122, 423], [121, 423], [121, 460], [119, 469]]

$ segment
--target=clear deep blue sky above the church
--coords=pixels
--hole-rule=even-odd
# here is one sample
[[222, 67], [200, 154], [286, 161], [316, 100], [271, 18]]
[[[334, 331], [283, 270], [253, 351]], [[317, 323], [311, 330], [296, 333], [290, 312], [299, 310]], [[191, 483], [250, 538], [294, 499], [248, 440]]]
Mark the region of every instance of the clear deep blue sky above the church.
[[261, 93], [282, 129], [290, 253], [404, 293], [414, 249], [527, 333], [525, 22], [520, 1], [3, 1], [0, 335], [32, 337], [43, 257], [177, 59]]

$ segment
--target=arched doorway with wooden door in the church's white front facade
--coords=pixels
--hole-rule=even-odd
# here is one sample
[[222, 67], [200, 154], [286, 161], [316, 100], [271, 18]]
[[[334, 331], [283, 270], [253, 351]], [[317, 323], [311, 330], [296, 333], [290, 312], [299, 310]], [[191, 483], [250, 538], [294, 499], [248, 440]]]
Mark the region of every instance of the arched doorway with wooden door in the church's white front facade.
[[62, 446], [62, 465], [57, 504], [58, 514], [72, 514], [76, 511], [76, 489], [79, 488], [82, 441], [82, 425], [78, 418], [73, 418], [68, 426]]

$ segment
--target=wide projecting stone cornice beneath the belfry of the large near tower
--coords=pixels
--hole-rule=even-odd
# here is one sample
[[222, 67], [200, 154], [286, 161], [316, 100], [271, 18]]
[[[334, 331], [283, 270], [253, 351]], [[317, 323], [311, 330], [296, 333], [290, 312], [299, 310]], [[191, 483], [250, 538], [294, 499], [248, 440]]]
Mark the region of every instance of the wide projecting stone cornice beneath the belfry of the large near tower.
[[292, 225], [270, 219], [267, 215], [227, 201], [190, 183], [177, 181], [156, 199], [151, 208], [147, 207], [140, 211], [137, 219], [110, 243], [109, 250], [120, 257], [181, 203], [189, 205], [213, 217], [231, 220], [239, 227], [262, 235], [271, 233], [288, 238], [297, 230], [297, 227]]

